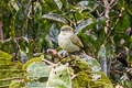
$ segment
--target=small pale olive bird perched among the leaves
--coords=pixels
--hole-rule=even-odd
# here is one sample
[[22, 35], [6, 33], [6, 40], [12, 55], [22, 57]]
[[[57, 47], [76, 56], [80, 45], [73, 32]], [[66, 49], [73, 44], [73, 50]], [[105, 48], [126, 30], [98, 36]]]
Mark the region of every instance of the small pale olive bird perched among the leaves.
[[69, 25], [61, 28], [58, 45], [68, 53], [79, 52], [84, 47], [80, 38], [73, 32], [73, 28]]

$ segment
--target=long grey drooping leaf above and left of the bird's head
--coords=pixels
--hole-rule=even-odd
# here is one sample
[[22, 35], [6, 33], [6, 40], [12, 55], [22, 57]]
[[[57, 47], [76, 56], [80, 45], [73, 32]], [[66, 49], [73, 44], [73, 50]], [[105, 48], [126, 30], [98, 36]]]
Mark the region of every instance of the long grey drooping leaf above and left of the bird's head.
[[57, 13], [48, 13], [48, 14], [44, 14], [42, 15], [43, 19], [48, 19], [48, 20], [54, 20], [54, 21], [57, 21], [57, 22], [61, 22], [61, 23], [68, 23], [68, 21], [61, 16], [61, 14], [57, 14]]

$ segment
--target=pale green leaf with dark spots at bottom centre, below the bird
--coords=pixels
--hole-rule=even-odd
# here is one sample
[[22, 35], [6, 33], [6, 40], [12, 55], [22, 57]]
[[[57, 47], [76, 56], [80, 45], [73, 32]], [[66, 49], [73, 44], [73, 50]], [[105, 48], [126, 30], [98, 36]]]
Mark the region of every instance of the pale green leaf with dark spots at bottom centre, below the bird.
[[68, 64], [53, 68], [46, 88], [72, 88]]

